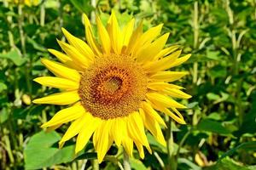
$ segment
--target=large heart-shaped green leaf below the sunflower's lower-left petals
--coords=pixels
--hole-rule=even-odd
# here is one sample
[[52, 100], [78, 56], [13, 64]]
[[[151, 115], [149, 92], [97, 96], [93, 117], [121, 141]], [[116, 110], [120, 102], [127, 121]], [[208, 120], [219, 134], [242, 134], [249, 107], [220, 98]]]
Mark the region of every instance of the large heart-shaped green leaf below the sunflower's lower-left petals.
[[33, 135], [24, 151], [26, 169], [51, 167], [73, 161], [74, 145], [66, 146], [61, 150], [53, 146], [60, 139], [61, 136], [55, 131], [50, 133], [41, 131]]

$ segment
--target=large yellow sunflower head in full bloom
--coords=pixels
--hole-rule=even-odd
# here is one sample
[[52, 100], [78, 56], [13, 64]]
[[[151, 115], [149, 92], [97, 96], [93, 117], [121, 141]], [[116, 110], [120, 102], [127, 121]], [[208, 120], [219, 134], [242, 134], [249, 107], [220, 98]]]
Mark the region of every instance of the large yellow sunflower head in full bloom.
[[132, 156], [133, 144], [140, 157], [143, 146], [151, 153], [145, 128], [163, 145], [161, 126], [166, 127], [158, 112], [184, 124], [177, 109], [186, 108], [172, 98], [189, 99], [174, 82], [186, 71], [166, 71], [181, 65], [190, 54], [179, 57], [179, 46], [164, 48], [169, 33], [162, 36], [162, 24], [143, 32], [142, 22], [134, 28], [131, 19], [123, 29], [112, 12], [107, 26], [97, 16], [98, 39], [84, 14], [87, 42], [62, 31], [67, 42], [58, 41], [64, 53], [49, 49], [60, 62], [42, 59], [55, 77], [38, 77], [34, 81], [61, 93], [34, 99], [35, 104], [69, 105], [58, 111], [42, 127], [55, 129], [72, 122], [59, 142], [60, 147], [77, 135], [75, 153], [83, 150], [92, 136], [99, 162], [113, 142], [122, 145]]

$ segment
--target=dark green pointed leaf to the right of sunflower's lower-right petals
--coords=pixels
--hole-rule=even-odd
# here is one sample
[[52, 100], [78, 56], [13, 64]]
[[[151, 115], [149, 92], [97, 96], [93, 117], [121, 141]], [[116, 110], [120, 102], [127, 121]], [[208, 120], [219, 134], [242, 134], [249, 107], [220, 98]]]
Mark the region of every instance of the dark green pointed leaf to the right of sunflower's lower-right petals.
[[201, 120], [197, 125], [197, 129], [218, 134], [230, 134], [230, 131], [225, 128], [221, 122], [213, 121], [211, 119]]

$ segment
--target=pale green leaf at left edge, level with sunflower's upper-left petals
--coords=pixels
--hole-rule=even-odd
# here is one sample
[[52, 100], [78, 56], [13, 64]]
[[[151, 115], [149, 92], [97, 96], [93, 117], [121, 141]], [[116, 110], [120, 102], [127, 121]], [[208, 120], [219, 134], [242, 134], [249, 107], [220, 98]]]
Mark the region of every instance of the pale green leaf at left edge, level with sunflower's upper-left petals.
[[20, 66], [26, 62], [26, 58], [23, 58], [18, 48], [12, 49], [6, 54], [0, 54], [0, 58], [10, 59], [15, 65]]

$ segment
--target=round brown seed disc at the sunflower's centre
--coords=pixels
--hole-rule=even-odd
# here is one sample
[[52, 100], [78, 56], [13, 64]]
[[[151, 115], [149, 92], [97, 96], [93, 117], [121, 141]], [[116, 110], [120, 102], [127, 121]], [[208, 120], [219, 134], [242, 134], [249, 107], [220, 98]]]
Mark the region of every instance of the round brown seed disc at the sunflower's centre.
[[96, 58], [81, 77], [79, 96], [84, 109], [104, 120], [137, 111], [147, 92], [146, 74], [128, 56]]

